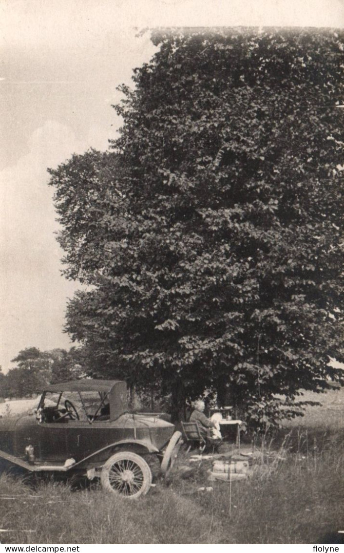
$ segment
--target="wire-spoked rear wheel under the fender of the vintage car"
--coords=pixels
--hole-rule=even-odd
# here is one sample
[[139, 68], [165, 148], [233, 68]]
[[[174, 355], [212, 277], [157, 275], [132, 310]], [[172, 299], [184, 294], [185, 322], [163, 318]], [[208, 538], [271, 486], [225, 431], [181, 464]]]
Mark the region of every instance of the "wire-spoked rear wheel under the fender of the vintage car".
[[152, 484], [152, 472], [148, 463], [136, 453], [120, 451], [112, 455], [100, 473], [101, 486], [107, 491], [136, 499], [146, 495]]

